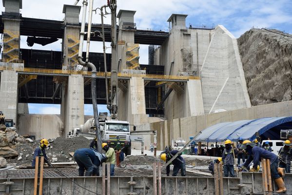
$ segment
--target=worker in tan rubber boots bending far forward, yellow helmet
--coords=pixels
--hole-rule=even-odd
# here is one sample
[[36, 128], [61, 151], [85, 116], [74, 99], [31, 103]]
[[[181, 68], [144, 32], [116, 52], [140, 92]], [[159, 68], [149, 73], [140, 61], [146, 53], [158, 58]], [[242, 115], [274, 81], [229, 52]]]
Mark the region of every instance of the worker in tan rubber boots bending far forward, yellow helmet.
[[275, 179], [275, 182], [278, 186], [278, 190], [276, 193], [285, 193], [286, 187], [284, 180], [278, 173], [278, 156], [273, 154], [270, 151], [264, 150], [260, 147], [257, 147], [255, 143], [251, 142], [250, 140], [244, 140], [241, 145], [241, 149], [247, 151], [249, 154], [248, 159], [245, 161], [243, 167], [239, 170], [242, 171], [244, 168], [248, 167], [248, 165], [253, 161], [253, 168], [251, 171], [256, 171], [257, 166], [261, 158], [270, 159], [270, 167], [271, 167], [271, 176]]

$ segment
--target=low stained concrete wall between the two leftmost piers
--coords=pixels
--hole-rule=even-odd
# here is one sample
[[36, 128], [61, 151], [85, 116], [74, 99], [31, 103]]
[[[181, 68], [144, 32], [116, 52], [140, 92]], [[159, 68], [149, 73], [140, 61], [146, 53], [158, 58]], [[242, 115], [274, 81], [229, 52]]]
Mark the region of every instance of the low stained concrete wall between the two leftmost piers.
[[17, 126], [19, 135], [36, 136], [36, 139], [61, 137], [64, 130], [59, 115], [19, 114]]

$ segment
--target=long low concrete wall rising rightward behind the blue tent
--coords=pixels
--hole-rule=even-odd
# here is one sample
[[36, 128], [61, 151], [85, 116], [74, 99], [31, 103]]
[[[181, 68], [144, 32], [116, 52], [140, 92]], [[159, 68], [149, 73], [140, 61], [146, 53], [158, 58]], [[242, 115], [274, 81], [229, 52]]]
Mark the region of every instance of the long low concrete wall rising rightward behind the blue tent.
[[[157, 149], [163, 150], [166, 145], [171, 144], [172, 139], [183, 137], [189, 140], [189, 137], [194, 137], [203, 129], [220, 122], [287, 116], [292, 116], [292, 101], [143, 124], [138, 125], [137, 130], [157, 130]], [[145, 145], [153, 142], [153, 137], [148, 136], [145, 139]]]

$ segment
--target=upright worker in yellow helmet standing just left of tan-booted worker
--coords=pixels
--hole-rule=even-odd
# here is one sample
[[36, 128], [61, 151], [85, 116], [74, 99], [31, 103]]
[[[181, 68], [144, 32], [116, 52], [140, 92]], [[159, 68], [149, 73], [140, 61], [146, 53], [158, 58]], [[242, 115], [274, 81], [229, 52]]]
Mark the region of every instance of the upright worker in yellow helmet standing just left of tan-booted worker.
[[234, 177], [234, 151], [231, 144], [231, 140], [227, 139], [225, 141], [225, 149], [222, 154], [225, 177], [228, 177], [229, 174], [231, 177]]

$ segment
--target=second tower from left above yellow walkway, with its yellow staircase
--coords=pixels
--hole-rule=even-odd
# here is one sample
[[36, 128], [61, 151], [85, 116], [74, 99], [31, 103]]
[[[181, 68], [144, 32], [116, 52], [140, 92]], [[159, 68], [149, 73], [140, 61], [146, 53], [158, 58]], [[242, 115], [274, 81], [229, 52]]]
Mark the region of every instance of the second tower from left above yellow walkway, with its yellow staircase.
[[74, 70], [78, 64], [80, 8], [81, 6], [77, 5], [64, 5], [63, 7], [63, 13], [65, 14], [65, 29], [62, 41], [63, 70]]

